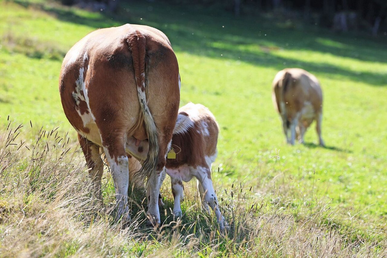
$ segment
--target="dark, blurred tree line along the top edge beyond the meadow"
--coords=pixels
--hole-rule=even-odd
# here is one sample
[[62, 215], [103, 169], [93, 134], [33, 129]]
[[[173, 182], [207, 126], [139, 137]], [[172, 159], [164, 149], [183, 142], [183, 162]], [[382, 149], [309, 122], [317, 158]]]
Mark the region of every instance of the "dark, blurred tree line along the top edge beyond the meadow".
[[[60, 0], [84, 8], [115, 12], [120, 2], [135, 0]], [[137, 0], [138, 1], [138, 0]], [[337, 31], [366, 31], [374, 36], [387, 31], [387, 0], [147, 0], [173, 4], [212, 6], [233, 12], [236, 16], [277, 12], [281, 17], [298, 12], [305, 22], [319, 24]]]

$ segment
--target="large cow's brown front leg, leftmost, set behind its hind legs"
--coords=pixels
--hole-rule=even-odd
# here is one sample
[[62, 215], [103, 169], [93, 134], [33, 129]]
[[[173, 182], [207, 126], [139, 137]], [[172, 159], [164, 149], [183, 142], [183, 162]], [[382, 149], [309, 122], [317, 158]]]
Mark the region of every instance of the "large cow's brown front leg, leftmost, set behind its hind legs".
[[101, 177], [103, 174], [103, 161], [99, 146], [87, 140], [80, 134], [78, 134], [78, 140], [83, 154], [85, 155], [91, 182], [94, 185], [94, 195], [102, 202]]

